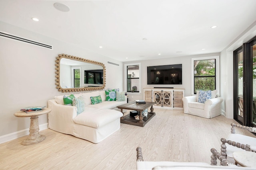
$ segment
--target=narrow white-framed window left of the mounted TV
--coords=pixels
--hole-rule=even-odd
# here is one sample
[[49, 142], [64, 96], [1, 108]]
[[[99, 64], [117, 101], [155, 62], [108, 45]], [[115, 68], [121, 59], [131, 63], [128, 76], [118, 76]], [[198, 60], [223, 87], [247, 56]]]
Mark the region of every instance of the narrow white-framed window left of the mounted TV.
[[141, 92], [140, 75], [140, 63], [124, 64], [124, 88], [126, 92]]

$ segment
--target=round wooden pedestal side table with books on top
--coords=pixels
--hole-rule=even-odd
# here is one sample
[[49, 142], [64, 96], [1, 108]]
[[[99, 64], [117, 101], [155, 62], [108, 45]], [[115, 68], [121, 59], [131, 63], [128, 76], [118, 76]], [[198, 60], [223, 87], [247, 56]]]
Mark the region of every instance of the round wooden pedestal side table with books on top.
[[44, 108], [42, 111], [34, 113], [26, 113], [25, 111], [17, 111], [14, 113], [16, 117], [30, 117], [29, 136], [22, 141], [22, 145], [33, 145], [44, 141], [46, 137], [44, 135], [39, 135], [38, 115], [50, 113], [50, 111], [52, 111], [52, 109]]

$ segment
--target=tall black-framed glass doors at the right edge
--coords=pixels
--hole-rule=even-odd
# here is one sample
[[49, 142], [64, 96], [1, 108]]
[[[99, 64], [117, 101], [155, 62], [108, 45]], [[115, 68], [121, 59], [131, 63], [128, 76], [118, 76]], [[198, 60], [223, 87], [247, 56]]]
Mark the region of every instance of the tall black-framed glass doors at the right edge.
[[234, 51], [234, 119], [256, 127], [256, 37]]

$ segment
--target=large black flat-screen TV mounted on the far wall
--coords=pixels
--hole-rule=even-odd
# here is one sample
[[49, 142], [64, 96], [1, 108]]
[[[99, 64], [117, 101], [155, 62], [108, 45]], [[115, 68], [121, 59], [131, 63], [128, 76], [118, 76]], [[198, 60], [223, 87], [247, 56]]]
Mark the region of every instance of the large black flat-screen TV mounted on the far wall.
[[148, 84], [182, 84], [182, 64], [148, 66]]

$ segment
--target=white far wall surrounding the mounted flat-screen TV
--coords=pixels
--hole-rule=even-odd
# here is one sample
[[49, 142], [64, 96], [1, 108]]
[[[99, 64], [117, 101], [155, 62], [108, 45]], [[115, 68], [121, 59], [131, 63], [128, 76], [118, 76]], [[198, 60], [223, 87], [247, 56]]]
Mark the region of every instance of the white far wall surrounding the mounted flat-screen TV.
[[[191, 58], [195, 57], [210, 57], [220, 55], [219, 53], [207, 54], [207, 55], [194, 55], [186, 57], [170, 57], [165, 59], [155, 59], [155, 60], [144, 60], [136, 62], [125, 62], [129, 63], [141, 63], [141, 94], [129, 93], [129, 101], [143, 99], [143, 88], [154, 88], [154, 87], [173, 87], [173, 88], [184, 88], [185, 96], [191, 96]], [[169, 65], [169, 64], [182, 64], [182, 84], [173, 85], [149, 85], [147, 84], [147, 66], [157, 66], [157, 65]], [[133, 98], [132, 98], [133, 97]]]

